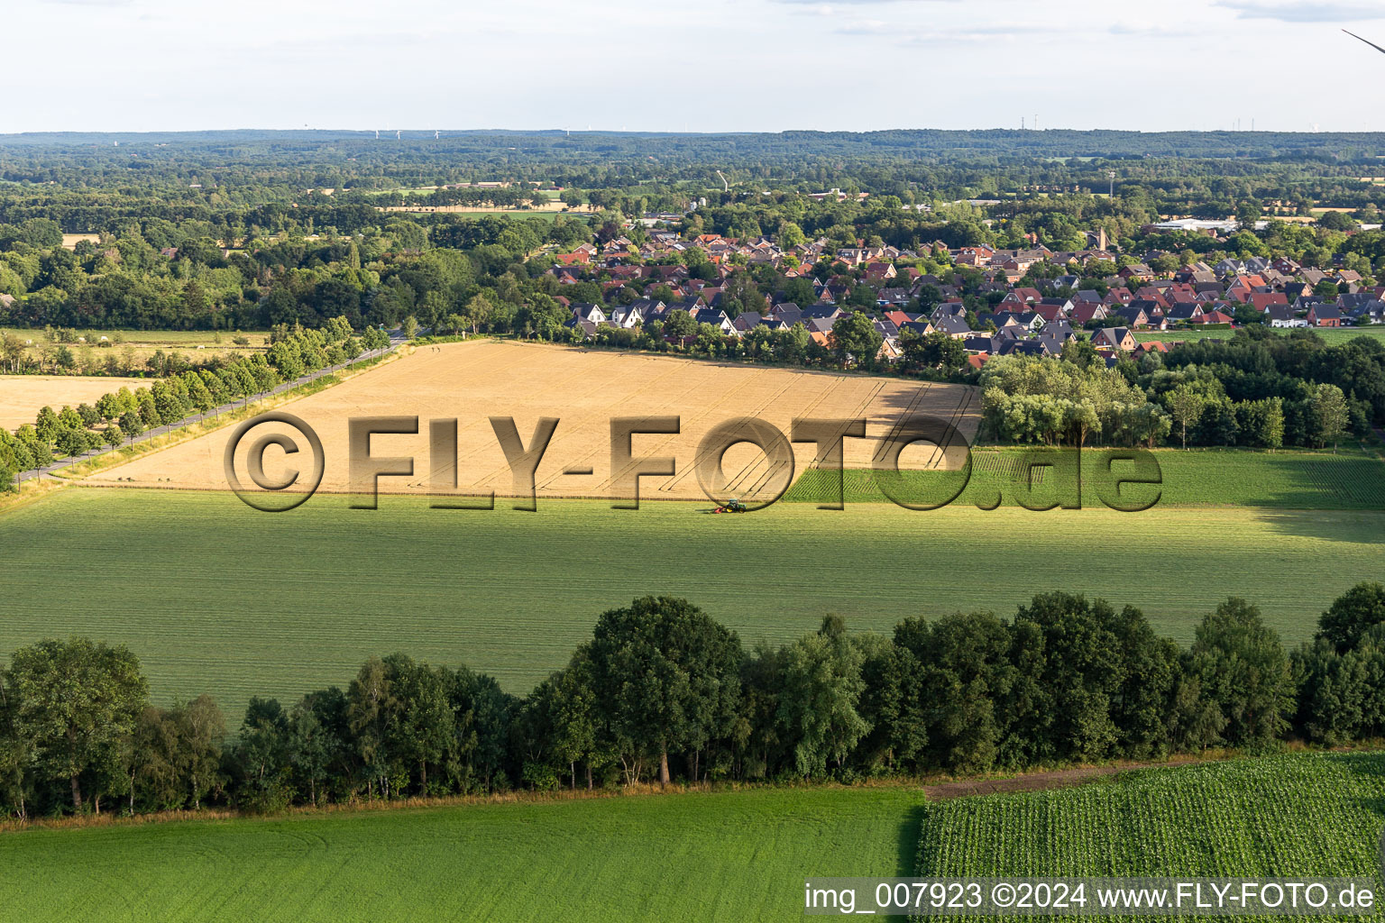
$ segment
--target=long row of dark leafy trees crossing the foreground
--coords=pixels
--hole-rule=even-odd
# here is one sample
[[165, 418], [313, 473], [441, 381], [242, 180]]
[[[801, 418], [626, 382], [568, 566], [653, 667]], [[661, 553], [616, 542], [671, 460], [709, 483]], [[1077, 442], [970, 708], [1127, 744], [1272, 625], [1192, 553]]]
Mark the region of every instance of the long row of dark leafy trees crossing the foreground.
[[1208, 747], [1263, 753], [1385, 733], [1385, 587], [1332, 603], [1288, 653], [1228, 599], [1180, 648], [1134, 607], [1043, 594], [1012, 619], [834, 616], [747, 650], [683, 599], [601, 614], [525, 696], [467, 667], [373, 657], [342, 688], [255, 697], [229, 733], [208, 696], [163, 707], [136, 655], [86, 638], [0, 670], [0, 811], [17, 818], [615, 787], [855, 782]]

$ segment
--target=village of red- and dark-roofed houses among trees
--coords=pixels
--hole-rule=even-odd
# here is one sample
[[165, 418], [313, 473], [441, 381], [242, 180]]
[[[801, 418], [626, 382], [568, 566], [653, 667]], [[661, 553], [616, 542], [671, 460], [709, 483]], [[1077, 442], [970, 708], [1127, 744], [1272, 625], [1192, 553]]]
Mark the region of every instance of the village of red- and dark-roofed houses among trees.
[[[1082, 338], [1115, 365], [1122, 356], [1166, 353], [1180, 340], [1180, 331], [1205, 336], [1226, 329], [1230, 336], [1245, 322], [1271, 328], [1385, 322], [1385, 286], [1367, 286], [1360, 273], [1349, 268], [1305, 267], [1283, 256], [1226, 257], [1156, 271], [1151, 264], [1168, 267], [1179, 262], [1177, 255], [1152, 250], [1132, 259], [1111, 249], [1100, 230], [1086, 235], [1090, 249], [1073, 252], [1054, 252], [1042, 244], [1028, 249], [949, 248], [942, 241], [927, 252], [867, 246], [863, 241], [832, 249], [825, 239], [785, 249], [770, 237], [701, 234], [687, 239], [668, 227], [670, 217], [651, 219], [654, 227], [638, 235], [641, 242], [620, 235], [554, 255], [550, 273], [560, 286], [597, 281], [602, 288], [601, 303], [558, 296], [572, 311], [568, 327], [575, 338], [593, 338], [601, 328], [632, 329], [686, 311], [694, 325], [708, 324], [726, 338], [744, 338], [758, 327], [787, 331], [802, 324], [814, 342], [831, 349], [834, 324], [864, 310], [882, 339], [878, 361], [899, 358], [902, 338], [942, 333], [960, 340], [968, 364], [981, 368], [992, 356], [1057, 356], [1068, 342]], [[925, 273], [914, 264], [922, 260], [979, 273], [979, 282], [964, 292], [956, 273]], [[690, 264], [711, 264], [713, 278], [702, 278], [705, 271], [694, 274]], [[1047, 278], [1043, 289], [1025, 285], [1030, 271], [1042, 266], [1061, 267], [1061, 274]], [[1093, 278], [1089, 270], [1102, 266], [1119, 266], [1101, 278], [1105, 291], [1084, 288]], [[812, 303], [791, 300], [780, 291], [765, 293], [759, 310], [729, 310], [734, 280], [756, 267], [771, 268], [785, 281], [806, 280]], [[645, 296], [659, 286], [673, 298]], [[868, 299], [860, 286], [868, 288]], [[975, 310], [978, 300], [968, 304], [967, 295], [978, 296], [989, 310]], [[666, 335], [669, 342], [680, 338], [692, 339]]]

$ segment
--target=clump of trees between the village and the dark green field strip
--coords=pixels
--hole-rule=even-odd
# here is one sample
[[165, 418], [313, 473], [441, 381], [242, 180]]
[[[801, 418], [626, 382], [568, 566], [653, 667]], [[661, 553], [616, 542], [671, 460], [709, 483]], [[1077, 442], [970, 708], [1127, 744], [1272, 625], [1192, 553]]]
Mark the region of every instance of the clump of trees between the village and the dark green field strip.
[[1325, 447], [1385, 422], [1385, 346], [1266, 328], [1190, 340], [1115, 368], [1090, 342], [1000, 356], [976, 376], [992, 437], [1043, 444]]

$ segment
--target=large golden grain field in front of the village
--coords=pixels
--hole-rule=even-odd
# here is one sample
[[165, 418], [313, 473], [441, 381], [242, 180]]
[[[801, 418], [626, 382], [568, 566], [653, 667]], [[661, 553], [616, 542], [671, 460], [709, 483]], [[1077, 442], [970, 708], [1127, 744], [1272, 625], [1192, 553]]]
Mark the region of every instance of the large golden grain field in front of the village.
[[[879, 437], [904, 414], [929, 414], [951, 421], [968, 439], [975, 435], [981, 401], [975, 389], [892, 378], [809, 372], [763, 365], [709, 363], [668, 356], [582, 350], [564, 346], [474, 340], [422, 346], [399, 361], [373, 369], [325, 392], [284, 407], [320, 436], [325, 472], [321, 490], [348, 493], [348, 419], [357, 417], [418, 417], [417, 435], [378, 435], [374, 457], [413, 457], [414, 473], [381, 477], [381, 493], [461, 494], [517, 493], [506, 454], [489, 418], [512, 417], [525, 447], [532, 446], [540, 418], [557, 418], [557, 429], [536, 472], [544, 497], [629, 497], [611, 470], [611, 418], [679, 417], [677, 435], [636, 435], [634, 457], [672, 457], [672, 477], [644, 477], [643, 498], [692, 500], [705, 494], [694, 472], [698, 443], [713, 426], [753, 417], [785, 436], [795, 418], [866, 418], [867, 437], [846, 440], [846, 465], [868, 466]], [[429, 457], [429, 421], [457, 418], [453, 464]], [[263, 433], [262, 433], [263, 430]], [[292, 430], [265, 425], [240, 443], [237, 470], [245, 479], [249, 447], [262, 435]], [[93, 483], [132, 487], [224, 490], [223, 455], [231, 429], [138, 458], [93, 476]], [[302, 444], [301, 437], [295, 437]], [[283, 480], [312, 468], [309, 454], [265, 453], [265, 475]], [[795, 475], [814, 458], [813, 443], [795, 443]], [[927, 443], [907, 448], [902, 468], [951, 466], [961, 453], [942, 457]], [[777, 484], [765, 454], [740, 444], [723, 458], [726, 490], [763, 495]], [[619, 472], [616, 472], [619, 475]], [[781, 477], [783, 469], [778, 470]], [[440, 477], [439, 483], [435, 477]], [[522, 486], [522, 483], [521, 483]], [[292, 490], [292, 488], [291, 488]]]

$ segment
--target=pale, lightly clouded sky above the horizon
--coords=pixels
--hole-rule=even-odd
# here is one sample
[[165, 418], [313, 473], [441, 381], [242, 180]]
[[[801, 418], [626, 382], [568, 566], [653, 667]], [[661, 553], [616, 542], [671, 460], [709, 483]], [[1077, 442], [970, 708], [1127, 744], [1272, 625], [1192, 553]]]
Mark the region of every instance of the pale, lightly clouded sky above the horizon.
[[1385, 130], [1385, 0], [4, 7], [0, 133]]

